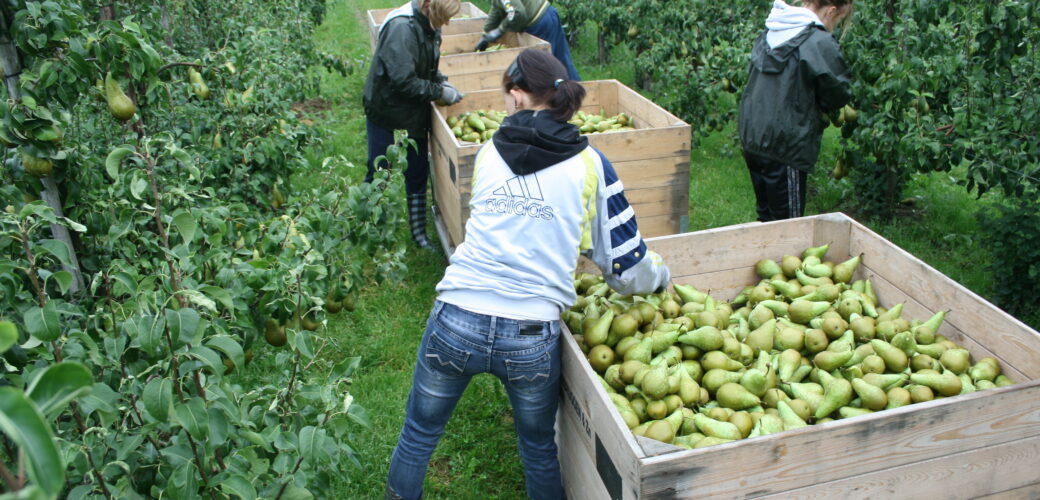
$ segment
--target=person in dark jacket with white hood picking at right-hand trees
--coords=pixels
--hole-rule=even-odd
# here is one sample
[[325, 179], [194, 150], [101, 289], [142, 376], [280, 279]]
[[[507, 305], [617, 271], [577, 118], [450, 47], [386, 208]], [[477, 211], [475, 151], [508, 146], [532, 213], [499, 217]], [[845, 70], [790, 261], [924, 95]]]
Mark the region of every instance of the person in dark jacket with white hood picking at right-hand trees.
[[737, 128], [755, 189], [758, 220], [801, 217], [806, 178], [827, 123], [821, 113], [852, 98], [849, 70], [830, 33], [852, 0], [775, 0], [751, 51]]

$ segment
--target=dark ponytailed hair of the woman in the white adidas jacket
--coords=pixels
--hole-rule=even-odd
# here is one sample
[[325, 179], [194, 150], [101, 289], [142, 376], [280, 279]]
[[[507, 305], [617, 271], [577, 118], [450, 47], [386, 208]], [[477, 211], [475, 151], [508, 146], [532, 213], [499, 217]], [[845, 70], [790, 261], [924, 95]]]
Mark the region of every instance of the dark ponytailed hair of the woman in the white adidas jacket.
[[502, 76], [505, 91], [519, 87], [531, 99], [549, 108], [557, 122], [567, 122], [581, 108], [586, 89], [581, 83], [567, 79], [567, 69], [552, 54], [527, 49], [517, 56]]

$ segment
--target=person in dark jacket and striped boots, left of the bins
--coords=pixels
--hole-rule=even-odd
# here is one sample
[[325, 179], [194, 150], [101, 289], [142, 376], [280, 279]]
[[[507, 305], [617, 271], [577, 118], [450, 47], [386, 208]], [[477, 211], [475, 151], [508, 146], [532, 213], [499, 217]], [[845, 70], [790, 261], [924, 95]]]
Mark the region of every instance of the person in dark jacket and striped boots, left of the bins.
[[[393, 131], [406, 130], [415, 140], [405, 170], [412, 239], [432, 248], [426, 238], [426, 183], [431, 101], [454, 104], [463, 95], [437, 70], [441, 26], [459, 12], [459, 0], [412, 0], [390, 12], [380, 27], [379, 42], [365, 81], [364, 105], [368, 131], [368, 174], [375, 159], [393, 144]], [[387, 167], [385, 162], [379, 166]]]

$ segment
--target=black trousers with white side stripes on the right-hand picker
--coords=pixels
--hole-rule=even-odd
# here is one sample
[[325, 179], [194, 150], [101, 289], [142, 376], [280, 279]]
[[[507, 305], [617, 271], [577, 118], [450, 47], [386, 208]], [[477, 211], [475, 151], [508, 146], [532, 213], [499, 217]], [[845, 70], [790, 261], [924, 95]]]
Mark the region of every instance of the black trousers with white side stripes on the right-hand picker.
[[755, 188], [755, 210], [758, 220], [781, 220], [801, 217], [805, 214], [805, 172], [779, 161], [773, 161], [749, 153], [744, 161], [751, 174], [751, 185]]

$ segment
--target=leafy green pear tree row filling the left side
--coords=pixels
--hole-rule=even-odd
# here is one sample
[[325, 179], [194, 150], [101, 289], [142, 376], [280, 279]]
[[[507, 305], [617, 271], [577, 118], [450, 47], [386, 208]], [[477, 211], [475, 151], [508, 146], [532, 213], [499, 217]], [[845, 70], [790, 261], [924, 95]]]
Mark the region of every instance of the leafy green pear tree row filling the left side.
[[[28, 479], [2, 475], [7, 491], [306, 498], [357, 463], [359, 360], [329, 362], [334, 341], [308, 330], [399, 275], [404, 195], [305, 159], [318, 134], [290, 106], [313, 91], [300, 75], [331, 62], [301, 8], [321, 5], [116, 3], [103, 21], [75, 0], [2, 7], [22, 72], [0, 122], [0, 411], [15, 419], [0, 464]], [[292, 189], [302, 173], [322, 181]], [[64, 216], [37, 200], [48, 185]]]

